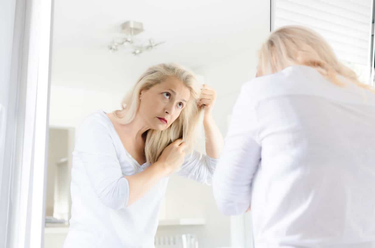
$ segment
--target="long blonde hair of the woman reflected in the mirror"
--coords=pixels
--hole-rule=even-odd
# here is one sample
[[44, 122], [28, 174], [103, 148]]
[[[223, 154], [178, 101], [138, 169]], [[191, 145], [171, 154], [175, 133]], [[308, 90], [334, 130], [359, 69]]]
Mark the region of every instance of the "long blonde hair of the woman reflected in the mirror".
[[198, 108], [200, 87], [195, 75], [177, 64], [157, 64], [148, 68], [138, 79], [132, 91], [121, 102], [121, 110], [113, 112], [118, 122], [127, 124], [134, 120], [139, 106], [139, 94], [149, 90], [167, 78], [175, 77], [190, 90], [190, 99], [177, 119], [165, 130], [147, 131], [145, 141], [145, 158], [148, 163], [154, 163], [162, 154], [164, 148], [174, 140], [182, 138], [187, 143], [186, 153], [192, 152], [195, 144], [195, 131], [200, 119], [201, 108]]

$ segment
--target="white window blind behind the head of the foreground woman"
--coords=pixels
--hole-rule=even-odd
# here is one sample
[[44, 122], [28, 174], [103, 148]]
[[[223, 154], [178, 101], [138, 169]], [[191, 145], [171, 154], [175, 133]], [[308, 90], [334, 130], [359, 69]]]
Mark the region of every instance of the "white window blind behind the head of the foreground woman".
[[330, 43], [340, 60], [367, 65], [372, 0], [275, 0], [274, 28], [303, 25]]

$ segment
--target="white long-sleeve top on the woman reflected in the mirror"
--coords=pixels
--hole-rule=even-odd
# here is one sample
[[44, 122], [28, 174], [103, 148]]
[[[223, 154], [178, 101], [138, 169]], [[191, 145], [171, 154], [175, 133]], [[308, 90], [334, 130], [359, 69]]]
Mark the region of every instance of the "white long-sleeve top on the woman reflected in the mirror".
[[[72, 217], [64, 248], [152, 248], [168, 177], [127, 206], [129, 184], [149, 164], [138, 164], [121, 143], [105, 112], [81, 124], [72, 165]], [[194, 151], [178, 175], [210, 184], [216, 159]]]

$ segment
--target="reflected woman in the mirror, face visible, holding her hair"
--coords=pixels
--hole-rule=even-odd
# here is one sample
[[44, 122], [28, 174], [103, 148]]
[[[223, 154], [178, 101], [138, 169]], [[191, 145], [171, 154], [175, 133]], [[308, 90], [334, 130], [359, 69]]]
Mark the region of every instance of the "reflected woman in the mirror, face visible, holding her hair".
[[[65, 248], [150, 248], [168, 177], [210, 183], [222, 136], [215, 91], [176, 64], [150, 67], [121, 110], [81, 124], [73, 152], [72, 217]], [[193, 151], [204, 111], [207, 155]]]

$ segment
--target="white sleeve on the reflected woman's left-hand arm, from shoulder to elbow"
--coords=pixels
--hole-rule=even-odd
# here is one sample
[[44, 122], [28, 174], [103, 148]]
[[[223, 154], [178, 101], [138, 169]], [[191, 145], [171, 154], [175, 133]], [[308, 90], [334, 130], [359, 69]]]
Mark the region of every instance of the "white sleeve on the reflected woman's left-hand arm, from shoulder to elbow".
[[108, 123], [100, 117], [89, 117], [81, 125], [73, 152], [73, 161], [78, 160], [104, 205], [113, 209], [127, 206], [129, 183], [122, 175]]

